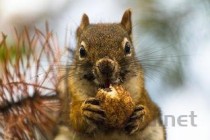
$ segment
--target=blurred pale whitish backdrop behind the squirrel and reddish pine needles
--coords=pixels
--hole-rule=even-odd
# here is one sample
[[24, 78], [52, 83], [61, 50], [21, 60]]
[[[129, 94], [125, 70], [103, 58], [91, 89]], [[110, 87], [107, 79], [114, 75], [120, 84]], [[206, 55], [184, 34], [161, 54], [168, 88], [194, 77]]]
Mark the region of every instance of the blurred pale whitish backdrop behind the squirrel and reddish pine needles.
[[[11, 34], [14, 26], [21, 31], [23, 25], [44, 30], [48, 21], [59, 45], [74, 48], [83, 13], [90, 22], [119, 22], [128, 8], [147, 89], [163, 120], [176, 119], [166, 125], [168, 140], [209, 140], [210, 0], [0, 0], [0, 32]], [[178, 124], [181, 115], [187, 115], [187, 126]]]

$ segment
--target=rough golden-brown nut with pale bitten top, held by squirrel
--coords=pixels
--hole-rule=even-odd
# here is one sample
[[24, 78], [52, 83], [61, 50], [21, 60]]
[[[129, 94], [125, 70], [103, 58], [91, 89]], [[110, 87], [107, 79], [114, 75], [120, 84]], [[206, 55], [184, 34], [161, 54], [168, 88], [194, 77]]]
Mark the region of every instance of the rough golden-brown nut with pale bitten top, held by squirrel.
[[99, 89], [96, 97], [101, 101], [100, 105], [105, 110], [107, 126], [123, 128], [135, 106], [129, 92], [122, 86], [115, 85], [110, 86], [110, 88]]

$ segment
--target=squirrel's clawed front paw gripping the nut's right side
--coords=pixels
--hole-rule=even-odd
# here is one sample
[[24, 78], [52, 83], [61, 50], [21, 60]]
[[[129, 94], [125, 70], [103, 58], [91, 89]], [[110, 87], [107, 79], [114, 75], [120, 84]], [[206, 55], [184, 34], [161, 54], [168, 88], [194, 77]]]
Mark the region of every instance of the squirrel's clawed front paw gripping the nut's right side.
[[139, 130], [141, 123], [144, 121], [145, 110], [144, 106], [137, 105], [128, 123], [125, 126], [125, 131], [128, 134], [134, 134]]

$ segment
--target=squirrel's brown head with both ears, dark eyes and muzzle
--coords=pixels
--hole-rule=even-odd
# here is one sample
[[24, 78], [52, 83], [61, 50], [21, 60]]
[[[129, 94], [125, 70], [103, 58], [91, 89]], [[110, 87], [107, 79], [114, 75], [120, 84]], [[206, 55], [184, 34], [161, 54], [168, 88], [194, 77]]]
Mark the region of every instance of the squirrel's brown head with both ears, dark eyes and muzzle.
[[120, 23], [90, 24], [84, 14], [76, 35], [75, 61], [84, 79], [101, 87], [126, 80], [136, 62], [130, 10]]

